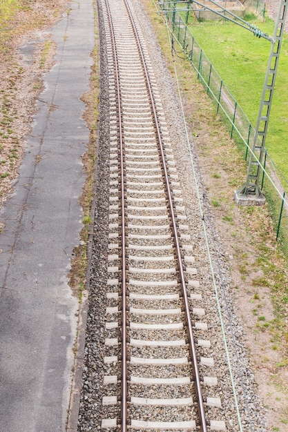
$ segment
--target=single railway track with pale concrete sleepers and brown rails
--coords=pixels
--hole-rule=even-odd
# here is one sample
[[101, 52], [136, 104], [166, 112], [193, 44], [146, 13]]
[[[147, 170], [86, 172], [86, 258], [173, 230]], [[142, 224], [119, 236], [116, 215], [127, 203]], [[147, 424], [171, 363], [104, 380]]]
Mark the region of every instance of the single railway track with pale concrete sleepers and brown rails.
[[132, 5], [102, 0], [102, 9], [110, 106], [102, 429], [224, 431], [197, 259], [153, 67]]

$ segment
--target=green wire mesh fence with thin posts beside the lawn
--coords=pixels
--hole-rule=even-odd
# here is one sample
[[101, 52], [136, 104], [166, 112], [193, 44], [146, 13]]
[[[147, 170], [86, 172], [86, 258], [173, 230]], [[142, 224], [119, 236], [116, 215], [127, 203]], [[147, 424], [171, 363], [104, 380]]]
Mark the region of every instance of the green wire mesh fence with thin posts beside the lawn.
[[[177, 12], [175, 3], [175, 1], [161, 2], [158, 0], [158, 6], [165, 14], [173, 38], [182, 47], [191, 65], [195, 68], [199, 81], [213, 100], [215, 109], [222, 117], [224, 124], [226, 124], [231, 138], [236, 142], [244, 159], [248, 161], [251, 156], [255, 130], [220, 75], [218, 75], [218, 72], [213, 68], [211, 61], [209, 61], [199, 43], [191, 34], [186, 25], [187, 15], [185, 22], [181, 14]], [[254, 156], [256, 157], [256, 155]], [[267, 150], [265, 150], [265, 161], [260, 169], [262, 190], [267, 199], [276, 238], [288, 259], [288, 181], [277, 169]]]

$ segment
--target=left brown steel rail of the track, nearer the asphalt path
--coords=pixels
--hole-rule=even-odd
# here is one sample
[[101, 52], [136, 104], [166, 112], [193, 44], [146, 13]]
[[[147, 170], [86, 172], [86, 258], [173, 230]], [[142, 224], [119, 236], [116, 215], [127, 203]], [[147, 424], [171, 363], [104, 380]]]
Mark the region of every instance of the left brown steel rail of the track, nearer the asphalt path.
[[111, 43], [113, 49], [113, 58], [115, 63], [115, 81], [117, 92], [117, 121], [118, 121], [118, 139], [120, 150], [120, 181], [121, 181], [121, 260], [122, 260], [122, 344], [121, 344], [121, 430], [127, 432], [127, 320], [126, 320], [126, 235], [125, 235], [125, 188], [124, 188], [124, 150], [123, 150], [123, 132], [122, 132], [122, 115], [121, 115], [121, 92], [119, 86], [119, 70], [116, 42], [113, 30], [111, 10], [108, 0], [105, 0], [108, 12], [108, 21], [111, 30]]

